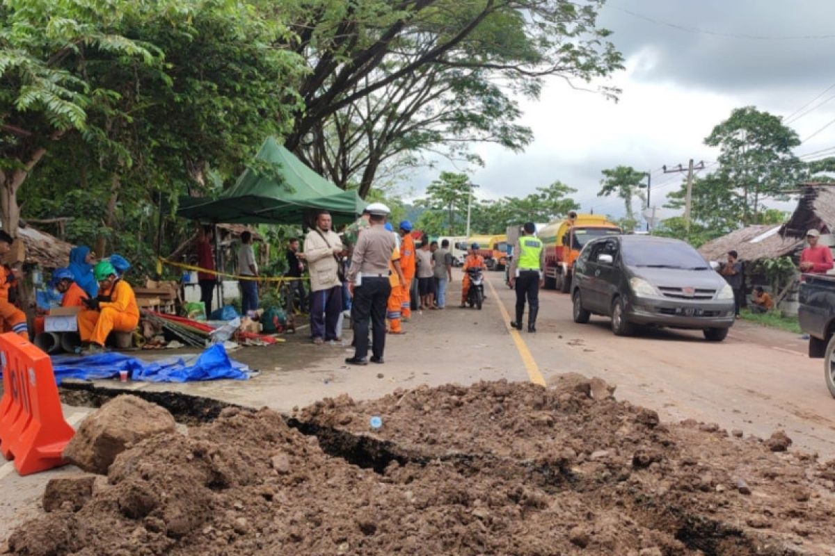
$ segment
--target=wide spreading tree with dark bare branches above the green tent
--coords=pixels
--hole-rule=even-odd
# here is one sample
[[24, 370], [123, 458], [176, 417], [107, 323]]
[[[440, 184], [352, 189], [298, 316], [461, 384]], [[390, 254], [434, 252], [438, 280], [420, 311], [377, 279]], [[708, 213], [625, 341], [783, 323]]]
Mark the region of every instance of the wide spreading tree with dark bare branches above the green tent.
[[[306, 0], [276, 11], [287, 5], [291, 48], [310, 71], [286, 144], [343, 187], [347, 170], [362, 175], [361, 194], [404, 147], [524, 146], [512, 96], [536, 98], [547, 76], [588, 83], [622, 62], [597, 26], [600, 0]], [[333, 133], [350, 133], [353, 150], [328, 153], [345, 146]]]

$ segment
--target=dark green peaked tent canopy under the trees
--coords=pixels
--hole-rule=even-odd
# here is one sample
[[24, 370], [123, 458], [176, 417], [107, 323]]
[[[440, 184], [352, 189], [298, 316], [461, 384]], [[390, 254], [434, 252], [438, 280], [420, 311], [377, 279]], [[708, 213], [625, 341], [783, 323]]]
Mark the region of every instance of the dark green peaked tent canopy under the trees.
[[[299, 223], [311, 212], [327, 210], [335, 220], [348, 222], [366, 206], [356, 191], [328, 182], [275, 138], [261, 145], [254, 166], [216, 200], [181, 198], [177, 214], [211, 223], [278, 224]], [[259, 166], [275, 168], [279, 176]]]

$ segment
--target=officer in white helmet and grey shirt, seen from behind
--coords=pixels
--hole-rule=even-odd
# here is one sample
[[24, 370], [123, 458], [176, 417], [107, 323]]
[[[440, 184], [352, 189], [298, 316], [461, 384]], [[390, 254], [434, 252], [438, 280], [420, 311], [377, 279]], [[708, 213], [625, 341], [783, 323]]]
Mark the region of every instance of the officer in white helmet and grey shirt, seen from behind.
[[[367, 206], [371, 228], [357, 239], [348, 271], [348, 289], [353, 298], [351, 321], [354, 327], [354, 356], [347, 358], [349, 365], [368, 364], [368, 318], [372, 321], [372, 363], [383, 363], [386, 348], [386, 307], [392, 285], [388, 275], [389, 263], [395, 248], [392, 233], [387, 232], [386, 217], [391, 211], [382, 203]], [[399, 265], [399, 261], [394, 263]]]

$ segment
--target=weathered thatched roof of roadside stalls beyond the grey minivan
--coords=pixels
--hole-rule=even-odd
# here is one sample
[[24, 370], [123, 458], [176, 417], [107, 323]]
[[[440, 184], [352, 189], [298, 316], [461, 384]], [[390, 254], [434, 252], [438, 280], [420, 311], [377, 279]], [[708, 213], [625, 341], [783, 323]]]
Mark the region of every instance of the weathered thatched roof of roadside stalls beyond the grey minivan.
[[801, 183], [800, 199], [783, 224], [748, 226], [705, 243], [699, 253], [720, 260], [731, 249], [742, 261], [792, 255], [802, 248], [808, 230], [835, 233], [835, 183]]

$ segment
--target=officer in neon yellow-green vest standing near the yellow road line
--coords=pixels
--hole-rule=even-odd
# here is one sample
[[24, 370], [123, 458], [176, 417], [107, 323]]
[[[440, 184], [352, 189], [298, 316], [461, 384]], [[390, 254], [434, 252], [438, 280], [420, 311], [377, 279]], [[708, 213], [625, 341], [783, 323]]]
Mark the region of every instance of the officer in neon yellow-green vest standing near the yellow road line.
[[525, 223], [510, 263], [510, 287], [516, 289], [516, 320], [510, 326], [522, 329], [525, 298], [528, 298], [528, 332], [536, 332], [539, 288], [544, 284], [545, 256], [542, 241], [534, 237], [536, 226]]

